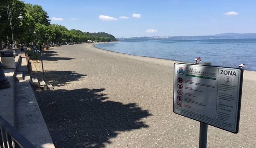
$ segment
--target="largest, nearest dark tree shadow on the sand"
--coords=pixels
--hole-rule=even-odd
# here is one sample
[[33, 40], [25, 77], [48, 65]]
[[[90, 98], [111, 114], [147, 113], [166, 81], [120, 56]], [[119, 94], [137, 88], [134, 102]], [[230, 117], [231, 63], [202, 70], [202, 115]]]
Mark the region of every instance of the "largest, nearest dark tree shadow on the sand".
[[58, 89], [35, 95], [56, 147], [105, 147], [122, 131], [147, 128], [152, 114], [136, 103], [108, 101], [100, 89]]

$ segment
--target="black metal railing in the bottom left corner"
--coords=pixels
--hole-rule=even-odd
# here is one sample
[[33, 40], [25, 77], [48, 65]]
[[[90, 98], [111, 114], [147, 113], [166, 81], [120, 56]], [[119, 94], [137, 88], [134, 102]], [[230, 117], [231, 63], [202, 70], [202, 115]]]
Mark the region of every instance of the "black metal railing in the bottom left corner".
[[0, 148], [36, 148], [0, 116]]

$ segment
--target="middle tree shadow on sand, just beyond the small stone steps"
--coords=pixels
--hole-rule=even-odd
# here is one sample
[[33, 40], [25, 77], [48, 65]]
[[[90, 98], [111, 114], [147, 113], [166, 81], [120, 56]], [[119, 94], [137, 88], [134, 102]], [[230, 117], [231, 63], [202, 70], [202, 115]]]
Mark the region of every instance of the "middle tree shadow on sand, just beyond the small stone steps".
[[[32, 72], [33, 76], [42, 78], [42, 71]], [[79, 74], [76, 71], [45, 71], [43, 79], [53, 86], [64, 86], [70, 82], [83, 81], [86, 74]]]

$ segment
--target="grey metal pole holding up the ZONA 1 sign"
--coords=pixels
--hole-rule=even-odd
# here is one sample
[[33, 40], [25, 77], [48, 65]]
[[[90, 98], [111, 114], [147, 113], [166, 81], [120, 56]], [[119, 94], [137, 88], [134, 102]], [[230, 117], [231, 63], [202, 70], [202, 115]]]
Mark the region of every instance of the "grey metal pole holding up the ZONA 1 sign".
[[[203, 65], [211, 65], [211, 62], [203, 62]], [[207, 147], [208, 124], [200, 122], [199, 148]]]

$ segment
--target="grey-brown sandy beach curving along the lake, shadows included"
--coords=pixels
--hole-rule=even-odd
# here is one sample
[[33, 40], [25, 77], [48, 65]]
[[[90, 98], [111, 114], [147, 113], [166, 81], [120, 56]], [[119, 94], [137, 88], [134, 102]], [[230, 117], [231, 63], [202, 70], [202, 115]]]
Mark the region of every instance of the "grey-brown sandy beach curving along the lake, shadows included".
[[[43, 56], [44, 79], [55, 89], [35, 95], [56, 147], [198, 147], [200, 123], [173, 113], [174, 61], [93, 44]], [[255, 147], [255, 91], [256, 72], [245, 71], [239, 133], [208, 126], [209, 148]]]

